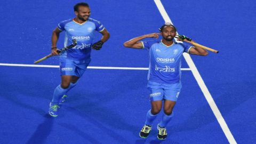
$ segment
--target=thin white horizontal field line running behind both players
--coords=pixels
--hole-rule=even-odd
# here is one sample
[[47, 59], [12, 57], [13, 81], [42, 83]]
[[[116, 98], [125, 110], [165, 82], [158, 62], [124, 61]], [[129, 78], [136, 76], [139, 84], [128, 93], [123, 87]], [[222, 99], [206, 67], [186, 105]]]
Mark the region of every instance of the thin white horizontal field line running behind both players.
[[[14, 67], [41, 67], [41, 68], [59, 68], [60, 66], [54, 65], [26, 65], [15, 63], [0, 63], [0, 66], [14, 66]], [[136, 67], [87, 67], [90, 69], [128, 69], [128, 70], [148, 70], [148, 68], [136, 68]], [[181, 68], [181, 70], [191, 70], [190, 68]]]

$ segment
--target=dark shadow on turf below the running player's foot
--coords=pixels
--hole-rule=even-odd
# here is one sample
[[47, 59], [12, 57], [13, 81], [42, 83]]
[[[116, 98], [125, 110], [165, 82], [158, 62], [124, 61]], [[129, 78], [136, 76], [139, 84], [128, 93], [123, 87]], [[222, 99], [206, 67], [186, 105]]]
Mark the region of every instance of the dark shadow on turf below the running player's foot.
[[27, 144], [45, 143], [46, 138], [51, 133], [54, 118], [51, 117], [49, 114], [45, 114], [44, 117], [44, 122], [37, 126], [36, 131], [27, 141]]

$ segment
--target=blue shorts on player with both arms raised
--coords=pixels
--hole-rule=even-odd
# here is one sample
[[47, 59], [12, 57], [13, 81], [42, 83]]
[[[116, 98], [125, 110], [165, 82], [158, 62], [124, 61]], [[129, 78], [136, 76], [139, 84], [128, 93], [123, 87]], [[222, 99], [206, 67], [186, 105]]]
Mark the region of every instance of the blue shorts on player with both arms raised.
[[182, 86], [181, 82], [174, 84], [161, 84], [148, 81], [147, 87], [150, 91], [150, 101], [157, 101], [163, 99], [177, 101]]

